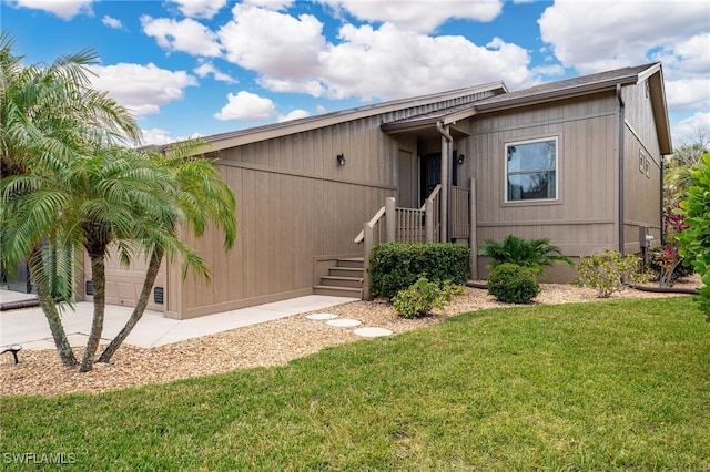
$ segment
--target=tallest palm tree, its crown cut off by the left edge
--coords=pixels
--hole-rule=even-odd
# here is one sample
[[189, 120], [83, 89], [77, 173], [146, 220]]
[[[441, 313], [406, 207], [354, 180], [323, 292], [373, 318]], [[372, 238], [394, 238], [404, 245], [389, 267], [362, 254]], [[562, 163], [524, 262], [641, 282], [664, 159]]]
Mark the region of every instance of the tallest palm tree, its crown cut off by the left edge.
[[[0, 178], [24, 175], [38, 166], [38, 161], [69, 161], [90, 143], [140, 141], [140, 129], [128, 110], [91, 89], [88, 68], [98, 63], [95, 53], [84, 50], [61, 57], [51, 65], [23, 66], [24, 58], [12, 53], [13, 44], [7, 32], [0, 34]], [[27, 188], [20, 187], [19, 192]], [[11, 218], [8, 199], [14, 195], [8, 191], [2, 197], [0, 263], [11, 270], [28, 261], [60, 358], [65, 366], [74, 366], [77, 359], [53, 299], [58, 290], [64, 300], [71, 299], [70, 284], [61, 283], [69, 280], [65, 277], [71, 264], [59, 265], [58, 270], [63, 273], [58, 277], [47, 274], [41, 257], [47, 234], [16, 244], [6, 224]], [[50, 245], [53, 246], [51, 242]], [[23, 254], [18, 252], [20, 248]]]

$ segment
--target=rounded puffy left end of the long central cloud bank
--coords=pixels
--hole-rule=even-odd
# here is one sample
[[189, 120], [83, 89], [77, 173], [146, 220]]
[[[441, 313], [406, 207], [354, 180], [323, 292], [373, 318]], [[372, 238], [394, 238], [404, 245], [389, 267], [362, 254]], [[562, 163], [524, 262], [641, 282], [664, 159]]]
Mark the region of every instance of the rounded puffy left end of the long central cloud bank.
[[293, 18], [240, 3], [232, 12], [233, 20], [217, 33], [227, 60], [274, 76], [303, 78], [317, 70], [325, 39], [315, 17]]

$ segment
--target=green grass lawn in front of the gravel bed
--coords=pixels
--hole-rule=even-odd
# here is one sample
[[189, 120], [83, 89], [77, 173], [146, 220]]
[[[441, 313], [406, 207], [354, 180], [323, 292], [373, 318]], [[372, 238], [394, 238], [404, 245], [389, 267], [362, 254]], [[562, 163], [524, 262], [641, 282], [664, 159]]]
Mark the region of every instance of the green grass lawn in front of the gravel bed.
[[485, 310], [0, 415], [3, 470], [710, 470], [710, 325], [690, 298]]

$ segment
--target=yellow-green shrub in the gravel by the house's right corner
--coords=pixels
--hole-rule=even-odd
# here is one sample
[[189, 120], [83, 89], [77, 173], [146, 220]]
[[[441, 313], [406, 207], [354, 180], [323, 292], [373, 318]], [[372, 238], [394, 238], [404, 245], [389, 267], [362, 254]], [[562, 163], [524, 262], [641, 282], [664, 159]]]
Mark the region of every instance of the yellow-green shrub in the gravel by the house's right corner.
[[600, 255], [581, 256], [577, 265], [579, 278], [575, 279], [575, 285], [591, 287], [597, 290], [597, 297], [609, 298], [615, 291], [622, 290], [627, 280], [646, 281], [641, 265], [640, 257], [633, 254], [622, 256], [611, 249], [605, 249]]

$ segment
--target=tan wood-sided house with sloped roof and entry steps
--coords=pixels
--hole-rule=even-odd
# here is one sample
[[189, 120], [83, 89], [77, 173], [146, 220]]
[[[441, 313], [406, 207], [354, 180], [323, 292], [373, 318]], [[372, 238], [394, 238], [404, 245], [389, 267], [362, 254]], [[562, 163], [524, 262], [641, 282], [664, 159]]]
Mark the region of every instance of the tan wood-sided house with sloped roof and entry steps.
[[[503, 83], [206, 137], [237, 199], [240, 232], [193, 242], [207, 286], [165, 265], [150, 309], [193, 318], [314, 293], [361, 296], [381, 240], [476, 248], [547, 237], [578, 257], [661, 239], [662, 158], [672, 152], [660, 63], [509, 92]], [[85, 270], [90, 281], [90, 267]], [[110, 304], [144, 270], [109, 267]], [[569, 281], [560, 266], [549, 280]], [[90, 284], [84, 284], [90, 299]], [[366, 295], [366, 294], [365, 294]]]

